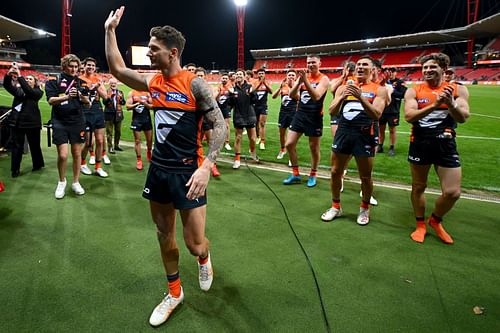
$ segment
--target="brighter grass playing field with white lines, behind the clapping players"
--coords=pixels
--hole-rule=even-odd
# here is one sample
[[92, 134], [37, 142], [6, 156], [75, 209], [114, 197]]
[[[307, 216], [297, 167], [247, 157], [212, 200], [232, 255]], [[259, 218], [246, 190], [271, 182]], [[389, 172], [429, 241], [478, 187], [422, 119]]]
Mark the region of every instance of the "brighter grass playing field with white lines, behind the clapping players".
[[[274, 85], [276, 88], [277, 85]], [[465, 124], [459, 125], [458, 149], [462, 159], [464, 191], [489, 192], [491, 195], [500, 195], [500, 177], [497, 165], [500, 164], [500, 86], [468, 86], [470, 92], [471, 117]], [[127, 94], [129, 89], [122, 86]], [[0, 89], [0, 105], [10, 105], [11, 97], [5, 90]], [[327, 95], [325, 106], [329, 105], [331, 94]], [[45, 100], [40, 102], [43, 119], [47, 121], [50, 117], [50, 108]], [[279, 113], [279, 99], [269, 98], [269, 116], [267, 125], [267, 143], [265, 151], [258, 151], [259, 157], [264, 161], [286, 164], [287, 159], [277, 160], [279, 150], [279, 136], [277, 129], [277, 118]], [[123, 122], [123, 140], [133, 141], [132, 131], [128, 130], [131, 113], [125, 113]], [[324, 136], [321, 142], [321, 169], [327, 170], [330, 165], [330, 146], [332, 136], [329, 130], [330, 117], [324, 117]], [[398, 127], [398, 140], [396, 144], [396, 156], [390, 158], [387, 154], [379, 154], [375, 160], [374, 178], [380, 181], [394, 181], [402, 184], [410, 184], [411, 176], [406, 160], [408, 150], [408, 138], [410, 125], [403, 119]], [[234, 133], [234, 132], [233, 132]], [[388, 132], [386, 133], [386, 150], [388, 143]], [[234, 140], [234, 135], [232, 135]], [[245, 151], [248, 143], [243, 140]], [[303, 137], [298, 144], [299, 163], [302, 171], [309, 171], [310, 163], [307, 138]], [[223, 154], [225, 152], [223, 151]], [[349, 174], [356, 175], [356, 165], [351, 162]], [[429, 186], [438, 187], [439, 182], [435, 174], [429, 176]]]

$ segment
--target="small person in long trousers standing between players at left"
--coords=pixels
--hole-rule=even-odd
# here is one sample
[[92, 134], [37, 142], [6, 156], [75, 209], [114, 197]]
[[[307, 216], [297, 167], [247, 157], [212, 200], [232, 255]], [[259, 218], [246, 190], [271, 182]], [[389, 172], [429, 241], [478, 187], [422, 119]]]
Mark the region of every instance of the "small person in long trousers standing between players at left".
[[[117, 86], [118, 81], [115, 78], [109, 79], [108, 98], [104, 101], [104, 122], [106, 125], [106, 139], [108, 151], [114, 154], [116, 151], [122, 151], [120, 148], [120, 136], [122, 133], [123, 110], [125, 105], [125, 95]], [[113, 140], [114, 132], [114, 140]], [[114, 142], [114, 147], [113, 147]]]

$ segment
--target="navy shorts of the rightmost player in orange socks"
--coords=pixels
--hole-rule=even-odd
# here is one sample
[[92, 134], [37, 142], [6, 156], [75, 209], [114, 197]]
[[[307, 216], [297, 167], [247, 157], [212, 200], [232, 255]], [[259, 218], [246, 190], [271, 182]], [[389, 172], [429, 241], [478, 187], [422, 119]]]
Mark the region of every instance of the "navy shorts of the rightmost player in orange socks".
[[418, 165], [438, 165], [444, 168], [459, 168], [460, 156], [455, 139], [419, 139], [410, 142], [408, 162]]

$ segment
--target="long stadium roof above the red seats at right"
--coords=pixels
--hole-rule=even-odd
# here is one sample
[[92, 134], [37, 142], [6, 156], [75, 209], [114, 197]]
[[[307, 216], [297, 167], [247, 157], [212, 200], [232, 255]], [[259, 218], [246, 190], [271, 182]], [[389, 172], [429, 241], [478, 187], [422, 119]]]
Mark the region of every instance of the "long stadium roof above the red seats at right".
[[380, 50], [384, 48], [407, 48], [444, 43], [463, 43], [470, 37], [495, 37], [500, 35], [500, 13], [461, 28], [427, 31], [408, 35], [362, 39], [356, 41], [298, 46], [280, 49], [250, 50], [255, 59], [268, 57], [304, 56], [306, 54], [335, 54]]

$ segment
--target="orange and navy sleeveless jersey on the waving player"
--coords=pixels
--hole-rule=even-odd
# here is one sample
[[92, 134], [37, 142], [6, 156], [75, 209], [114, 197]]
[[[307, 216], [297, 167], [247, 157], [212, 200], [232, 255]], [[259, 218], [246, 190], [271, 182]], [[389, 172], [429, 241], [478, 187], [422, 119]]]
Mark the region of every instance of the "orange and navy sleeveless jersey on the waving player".
[[170, 172], [193, 172], [203, 161], [200, 133], [202, 113], [196, 109], [191, 81], [181, 71], [173, 77], [156, 74], [149, 82], [153, 99], [155, 148], [152, 163]]

